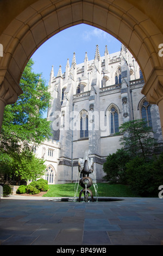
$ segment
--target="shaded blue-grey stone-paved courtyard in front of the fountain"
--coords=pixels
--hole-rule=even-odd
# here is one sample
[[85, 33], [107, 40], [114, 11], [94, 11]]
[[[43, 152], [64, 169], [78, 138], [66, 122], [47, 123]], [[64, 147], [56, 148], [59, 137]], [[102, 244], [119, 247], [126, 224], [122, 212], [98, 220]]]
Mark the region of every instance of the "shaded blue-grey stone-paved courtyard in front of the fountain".
[[54, 202], [1, 198], [1, 245], [161, 245], [163, 199]]

